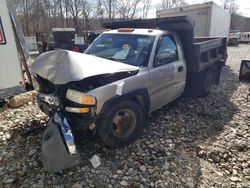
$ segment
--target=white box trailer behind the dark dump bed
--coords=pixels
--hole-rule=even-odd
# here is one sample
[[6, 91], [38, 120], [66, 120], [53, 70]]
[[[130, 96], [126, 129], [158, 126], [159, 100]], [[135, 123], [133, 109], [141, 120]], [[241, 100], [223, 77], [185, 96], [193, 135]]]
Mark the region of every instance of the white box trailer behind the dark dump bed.
[[195, 37], [228, 37], [231, 15], [212, 1], [156, 11], [158, 18], [172, 16], [190, 16]]

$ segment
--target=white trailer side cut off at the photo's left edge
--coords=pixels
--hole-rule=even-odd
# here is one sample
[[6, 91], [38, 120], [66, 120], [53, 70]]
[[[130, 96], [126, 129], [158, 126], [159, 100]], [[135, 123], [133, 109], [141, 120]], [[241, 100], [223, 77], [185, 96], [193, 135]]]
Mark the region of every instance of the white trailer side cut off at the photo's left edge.
[[32, 87], [28, 58], [12, 1], [0, 0], [0, 100]]

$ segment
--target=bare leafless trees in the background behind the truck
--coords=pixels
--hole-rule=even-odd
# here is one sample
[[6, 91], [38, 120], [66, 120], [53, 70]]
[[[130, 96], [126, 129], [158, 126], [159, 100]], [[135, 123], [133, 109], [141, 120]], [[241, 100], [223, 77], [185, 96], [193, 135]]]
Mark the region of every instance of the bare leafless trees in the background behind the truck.
[[[25, 36], [53, 27], [74, 27], [77, 33], [101, 29], [103, 21], [147, 18], [152, 0], [13, 0]], [[158, 8], [185, 4], [161, 0]]]

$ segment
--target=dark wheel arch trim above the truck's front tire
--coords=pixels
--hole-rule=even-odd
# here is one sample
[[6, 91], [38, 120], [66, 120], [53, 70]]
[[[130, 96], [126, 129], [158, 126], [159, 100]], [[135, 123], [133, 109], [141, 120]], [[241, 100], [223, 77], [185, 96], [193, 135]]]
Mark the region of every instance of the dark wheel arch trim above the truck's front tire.
[[[150, 108], [149, 94], [148, 94], [147, 88], [141, 88], [141, 89], [136, 89], [136, 90], [130, 91], [128, 93], [125, 93], [119, 96], [115, 96], [107, 100], [102, 106], [102, 109], [100, 111], [100, 116], [102, 118], [108, 116], [110, 109], [112, 109], [117, 103], [121, 101], [131, 100], [131, 99], [137, 100], [138, 96], [143, 97], [143, 109], [142, 110], [144, 110], [144, 112], [147, 114]], [[138, 102], [140, 103], [140, 101]], [[140, 105], [142, 106], [141, 103]]]

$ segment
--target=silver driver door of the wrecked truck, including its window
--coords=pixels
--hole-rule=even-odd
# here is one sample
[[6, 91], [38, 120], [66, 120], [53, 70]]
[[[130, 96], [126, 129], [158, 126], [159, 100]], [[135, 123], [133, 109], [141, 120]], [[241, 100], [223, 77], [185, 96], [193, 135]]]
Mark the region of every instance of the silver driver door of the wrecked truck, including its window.
[[175, 68], [179, 62], [178, 50], [172, 35], [163, 35], [155, 52], [151, 79], [151, 109], [160, 108], [174, 97]]

